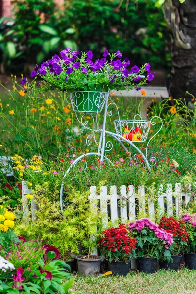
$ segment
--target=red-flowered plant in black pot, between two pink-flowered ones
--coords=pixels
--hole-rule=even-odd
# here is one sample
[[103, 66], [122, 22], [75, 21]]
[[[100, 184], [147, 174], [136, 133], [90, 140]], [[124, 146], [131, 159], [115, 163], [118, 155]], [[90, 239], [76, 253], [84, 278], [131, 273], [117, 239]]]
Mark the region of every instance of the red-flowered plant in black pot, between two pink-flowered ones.
[[168, 262], [163, 256], [160, 261], [160, 269], [177, 271], [182, 259], [182, 252], [189, 242], [188, 233], [185, 230], [185, 221], [183, 219], [177, 221], [174, 217], [167, 218], [163, 216], [160, 220], [159, 228], [173, 235], [173, 244], [170, 247], [172, 261]]

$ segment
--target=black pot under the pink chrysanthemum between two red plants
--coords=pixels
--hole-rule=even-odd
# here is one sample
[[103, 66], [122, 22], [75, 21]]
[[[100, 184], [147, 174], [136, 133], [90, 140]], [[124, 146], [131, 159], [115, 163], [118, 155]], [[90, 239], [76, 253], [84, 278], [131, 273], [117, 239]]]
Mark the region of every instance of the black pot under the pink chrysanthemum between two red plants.
[[139, 272], [155, 273], [158, 270], [159, 260], [154, 257], [138, 257], [137, 265]]

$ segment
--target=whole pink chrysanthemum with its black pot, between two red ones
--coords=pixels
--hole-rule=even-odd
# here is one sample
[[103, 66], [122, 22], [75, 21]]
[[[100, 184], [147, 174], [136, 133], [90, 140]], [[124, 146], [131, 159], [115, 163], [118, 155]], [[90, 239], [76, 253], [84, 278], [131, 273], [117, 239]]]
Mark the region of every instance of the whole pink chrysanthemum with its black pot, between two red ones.
[[154, 273], [163, 256], [170, 261], [173, 235], [147, 218], [129, 223], [129, 230], [137, 240], [136, 255], [139, 272]]

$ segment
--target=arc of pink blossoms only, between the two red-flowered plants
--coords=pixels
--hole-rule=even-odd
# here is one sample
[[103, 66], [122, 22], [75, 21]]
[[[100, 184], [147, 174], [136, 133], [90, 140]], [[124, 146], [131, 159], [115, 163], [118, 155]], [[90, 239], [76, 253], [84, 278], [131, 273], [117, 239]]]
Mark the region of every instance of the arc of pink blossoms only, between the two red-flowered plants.
[[164, 229], [159, 228], [158, 224], [150, 221], [148, 218], [137, 220], [136, 222], [129, 223], [129, 230], [132, 232], [133, 229], [137, 231], [141, 231], [144, 228], [149, 228], [154, 231], [154, 234], [157, 238], [163, 240], [163, 244], [165, 244], [165, 248], [168, 248], [168, 245], [172, 245], [173, 243], [173, 235], [167, 233]]

